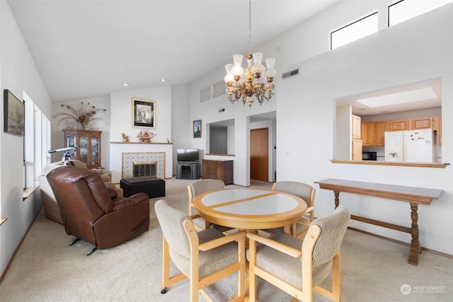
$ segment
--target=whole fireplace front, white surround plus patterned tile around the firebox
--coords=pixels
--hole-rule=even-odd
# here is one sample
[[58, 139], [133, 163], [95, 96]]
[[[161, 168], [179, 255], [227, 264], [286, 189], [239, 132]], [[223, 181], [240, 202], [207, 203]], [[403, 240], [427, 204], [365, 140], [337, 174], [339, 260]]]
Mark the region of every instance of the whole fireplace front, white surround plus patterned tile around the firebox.
[[112, 181], [133, 177], [134, 162], [156, 161], [156, 177], [173, 177], [173, 144], [110, 142]]

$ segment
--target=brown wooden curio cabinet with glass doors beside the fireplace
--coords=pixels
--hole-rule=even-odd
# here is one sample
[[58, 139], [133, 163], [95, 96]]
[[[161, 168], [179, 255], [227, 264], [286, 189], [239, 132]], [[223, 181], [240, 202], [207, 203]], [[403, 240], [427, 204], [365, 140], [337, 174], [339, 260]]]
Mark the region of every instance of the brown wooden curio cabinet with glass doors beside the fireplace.
[[74, 159], [86, 164], [86, 168], [101, 168], [101, 132], [64, 129], [64, 147], [77, 147]]

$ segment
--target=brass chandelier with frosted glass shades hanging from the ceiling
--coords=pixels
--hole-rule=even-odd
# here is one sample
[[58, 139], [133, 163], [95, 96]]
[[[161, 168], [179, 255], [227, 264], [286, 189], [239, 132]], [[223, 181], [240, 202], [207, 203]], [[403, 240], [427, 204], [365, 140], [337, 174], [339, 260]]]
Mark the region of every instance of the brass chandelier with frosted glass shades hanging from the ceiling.
[[[263, 53], [255, 52], [251, 54], [251, 0], [248, 1], [248, 54], [247, 68], [244, 71], [241, 67], [243, 55], [234, 54], [234, 64], [226, 64], [226, 76], [224, 81], [226, 82], [227, 88], [226, 93], [228, 100], [231, 103], [236, 102], [242, 98], [242, 103], [248, 107], [253, 105], [254, 99], [256, 98], [260, 105], [264, 100], [270, 100], [274, 93], [273, 90], [275, 85], [273, 83], [274, 77], [277, 75], [277, 71], [274, 69], [275, 59], [266, 59], [266, 67], [261, 64], [263, 59]], [[253, 65], [252, 65], [253, 57]], [[264, 83], [261, 76], [264, 76], [268, 83]]]

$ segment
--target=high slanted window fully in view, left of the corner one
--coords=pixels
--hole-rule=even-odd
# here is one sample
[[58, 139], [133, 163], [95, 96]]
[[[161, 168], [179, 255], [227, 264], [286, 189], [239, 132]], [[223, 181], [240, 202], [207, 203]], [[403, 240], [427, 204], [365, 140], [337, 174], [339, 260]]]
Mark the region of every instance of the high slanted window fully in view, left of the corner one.
[[358, 40], [378, 30], [377, 11], [331, 31], [331, 50]]

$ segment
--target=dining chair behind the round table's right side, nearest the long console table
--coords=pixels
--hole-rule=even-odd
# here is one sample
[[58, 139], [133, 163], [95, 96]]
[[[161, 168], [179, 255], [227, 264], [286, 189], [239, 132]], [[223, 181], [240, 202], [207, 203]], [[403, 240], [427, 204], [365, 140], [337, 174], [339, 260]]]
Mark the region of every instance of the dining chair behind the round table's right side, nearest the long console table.
[[[314, 194], [316, 192], [314, 187], [307, 185], [303, 182], [294, 181], [280, 181], [274, 182], [272, 186], [273, 191], [285, 192], [304, 199], [306, 202], [306, 211], [297, 223], [291, 226], [292, 236], [304, 238], [306, 231], [308, 231], [311, 221], [314, 219]], [[270, 228], [263, 230], [265, 233], [275, 234], [283, 232], [283, 228]]]

